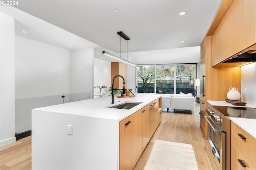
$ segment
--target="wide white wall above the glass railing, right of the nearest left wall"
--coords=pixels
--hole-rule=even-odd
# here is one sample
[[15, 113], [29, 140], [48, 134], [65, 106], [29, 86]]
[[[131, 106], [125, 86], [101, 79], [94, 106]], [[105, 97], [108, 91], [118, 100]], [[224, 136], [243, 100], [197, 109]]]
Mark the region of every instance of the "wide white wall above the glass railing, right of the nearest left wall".
[[69, 93], [69, 51], [15, 36], [15, 98]]

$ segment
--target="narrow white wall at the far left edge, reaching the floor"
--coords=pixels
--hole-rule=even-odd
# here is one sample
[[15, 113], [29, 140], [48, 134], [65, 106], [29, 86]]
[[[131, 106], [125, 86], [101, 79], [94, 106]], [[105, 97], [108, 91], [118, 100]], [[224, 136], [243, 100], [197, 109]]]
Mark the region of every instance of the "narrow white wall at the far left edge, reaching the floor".
[[14, 18], [0, 13], [0, 147], [16, 141], [14, 132]]

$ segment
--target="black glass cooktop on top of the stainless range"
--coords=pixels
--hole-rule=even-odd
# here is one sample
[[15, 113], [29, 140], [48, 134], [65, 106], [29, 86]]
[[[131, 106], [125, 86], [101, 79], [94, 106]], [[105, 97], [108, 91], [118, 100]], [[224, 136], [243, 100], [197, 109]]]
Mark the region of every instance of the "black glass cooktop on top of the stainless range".
[[256, 119], [256, 108], [254, 107], [230, 107], [230, 106], [213, 106], [214, 109], [224, 115], [232, 117], [244, 117]]

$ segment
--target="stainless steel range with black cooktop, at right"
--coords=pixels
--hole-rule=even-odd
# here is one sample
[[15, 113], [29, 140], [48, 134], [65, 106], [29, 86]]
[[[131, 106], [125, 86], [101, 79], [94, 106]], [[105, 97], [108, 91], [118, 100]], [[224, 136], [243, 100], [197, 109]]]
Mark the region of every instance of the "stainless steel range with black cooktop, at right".
[[206, 109], [208, 116], [208, 148], [218, 170], [230, 170], [231, 121], [230, 117], [256, 119], [256, 108], [211, 106]]

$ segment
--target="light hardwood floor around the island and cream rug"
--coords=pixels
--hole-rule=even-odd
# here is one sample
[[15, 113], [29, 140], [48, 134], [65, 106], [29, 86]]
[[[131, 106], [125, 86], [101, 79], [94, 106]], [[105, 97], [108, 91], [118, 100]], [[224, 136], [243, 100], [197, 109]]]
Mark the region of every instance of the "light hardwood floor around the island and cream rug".
[[[200, 106], [189, 114], [188, 111], [173, 110], [162, 113], [162, 122], [142, 153], [134, 170], [143, 170], [156, 139], [192, 144], [199, 170], [214, 170], [210, 160], [204, 134], [200, 128]], [[0, 147], [0, 170], [31, 170], [31, 136], [15, 143]]]

